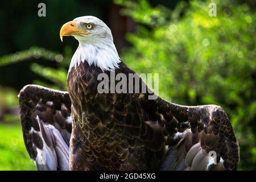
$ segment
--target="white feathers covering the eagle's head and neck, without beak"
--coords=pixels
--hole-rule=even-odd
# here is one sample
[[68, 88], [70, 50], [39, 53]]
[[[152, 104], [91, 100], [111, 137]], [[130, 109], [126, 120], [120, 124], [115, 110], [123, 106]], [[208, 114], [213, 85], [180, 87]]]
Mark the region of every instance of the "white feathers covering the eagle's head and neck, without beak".
[[114, 46], [112, 32], [109, 27], [94, 16], [81, 16], [73, 21], [81, 30], [85, 29], [84, 24], [87, 23], [92, 23], [93, 28], [86, 30], [90, 33], [88, 35], [73, 35], [79, 41], [79, 47], [72, 57], [69, 71], [84, 61], [106, 71], [118, 68], [118, 63], [121, 60]]

